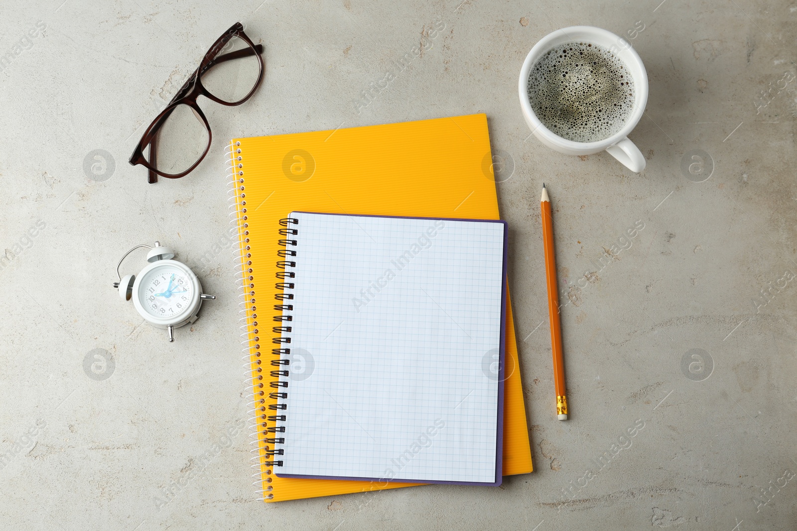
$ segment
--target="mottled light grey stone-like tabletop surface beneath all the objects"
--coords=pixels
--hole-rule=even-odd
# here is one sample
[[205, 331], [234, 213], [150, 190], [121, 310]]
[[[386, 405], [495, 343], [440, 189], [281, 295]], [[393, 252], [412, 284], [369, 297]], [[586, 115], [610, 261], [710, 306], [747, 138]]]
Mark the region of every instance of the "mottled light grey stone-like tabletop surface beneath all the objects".
[[[794, 529], [797, 4], [61, 2], [0, 7], [0, 527]], [[433, 48], [358, 114], [359, 92], [435, 19], [446, 29]], [[233, 109], [203, 102], [216, 139], [206, 162], [147, 185], [127, 163], [142, 127], [237, 20], [265, 45], [261, 89]], [[44, 32], [23, 39], [37, 21]], [[650, 99], [631, 135], [648, 159], [640, 175], [528, 138], [520, 64], [576, 24], [625, 35], [646, 64]], [[498, 195], [536, 471], [495, 489], [257, 502], [238, 429], [224, 140], [473, 112], [514, 166]], [[690, 150], [713, 159], [704, 182], [681, 171]], [[566, 423], [552, 404], [542, 181], [559, 283], [574, 285]], [[605, 258], [636, 221], [630, 248]], [[204, 266], [218, 295], [173, 344], [110, 287], [121, 254], [153, 240]], [[630, 447], [596, 465], [637, 420]]]

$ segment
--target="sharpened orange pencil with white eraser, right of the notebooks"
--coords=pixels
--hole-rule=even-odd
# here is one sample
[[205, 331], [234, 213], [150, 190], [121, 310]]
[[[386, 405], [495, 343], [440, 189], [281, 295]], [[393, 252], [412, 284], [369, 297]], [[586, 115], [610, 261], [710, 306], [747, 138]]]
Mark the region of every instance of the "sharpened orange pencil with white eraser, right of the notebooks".
[[562, 359], [562, 328], [559, 324], [559, 288], [556, 286], [556, 256], [553, 247], [553, 218], [548, 190], [543, 185], [540, 201], [543, 218], [543, 246], [545, 249], [545, 280], [548, 285], [548, 318], [551, 323], [551, 349], [553, 352], [553, 382], [556, 391], [556, 415], [567, 420], [567, 390], [564, 386], [564, 361]]

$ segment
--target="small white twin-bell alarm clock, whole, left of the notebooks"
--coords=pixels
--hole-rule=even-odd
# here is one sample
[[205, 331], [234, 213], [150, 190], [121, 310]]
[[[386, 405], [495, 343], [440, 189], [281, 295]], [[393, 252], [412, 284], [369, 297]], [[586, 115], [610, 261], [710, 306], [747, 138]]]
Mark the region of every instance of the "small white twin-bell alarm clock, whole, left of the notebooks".
[[[147, 264], [138, 276], [120, 275], [119, 267], [127, 256], [138, 248], [149, 248]], [[113, 287], [119, 290], [123, 300], [133, 299], [135, 310], [147, 322], [167, 330], [169, 341], [175, 341], [175, 328], [197, 320], [199, 307], [205, 299], [215, 299], [214, 295], [202, 293], [202, 284], [197, 275], [178, 260], [172, 260], [175, 253], [170, 248], [155, 242], [155, 247], [136, 245], [124, 253], [116, 264], [119, 282]]]

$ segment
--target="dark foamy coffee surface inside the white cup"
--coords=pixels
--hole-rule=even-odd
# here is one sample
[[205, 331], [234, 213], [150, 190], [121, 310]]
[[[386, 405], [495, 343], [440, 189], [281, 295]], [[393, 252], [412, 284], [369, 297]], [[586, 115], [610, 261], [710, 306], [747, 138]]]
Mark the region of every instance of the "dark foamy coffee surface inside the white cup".
[[626, 123], [634, 108], [634, 83], [626, 65], [608, 49], [569, 42], [534, 64], [528, 75], [528, 101], [555, 135], [597, 142]]

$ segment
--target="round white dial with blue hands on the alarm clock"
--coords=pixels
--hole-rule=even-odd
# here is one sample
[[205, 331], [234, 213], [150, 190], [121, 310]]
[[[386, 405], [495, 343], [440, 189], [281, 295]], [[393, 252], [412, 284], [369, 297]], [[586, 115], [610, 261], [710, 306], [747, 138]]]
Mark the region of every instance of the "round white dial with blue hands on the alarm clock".
[[141, 306], [148, 314], [159, 318], [182, 314], [195, 296], [193, 283], [177, 267], [155, 267], [139, 283]]

